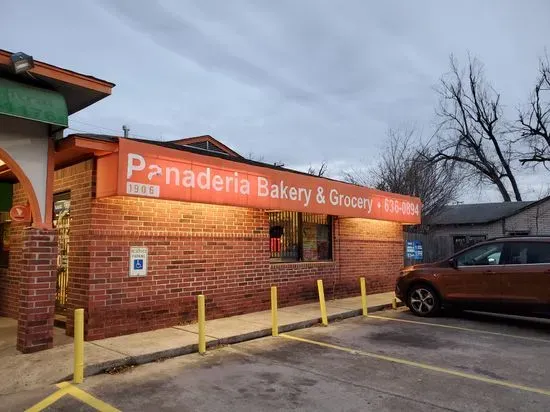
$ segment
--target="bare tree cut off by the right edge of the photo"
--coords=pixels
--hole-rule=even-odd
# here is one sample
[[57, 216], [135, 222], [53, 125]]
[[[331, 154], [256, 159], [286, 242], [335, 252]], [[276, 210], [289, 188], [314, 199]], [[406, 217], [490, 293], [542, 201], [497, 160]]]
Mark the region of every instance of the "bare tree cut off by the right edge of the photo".
[[[539, 62], [539, 74], [528, 107], [518, 114], [517, 130], [529, 148], [522, 164], [543, 165], [550, 170], [550, 60]], [[548, 163], [548, 164], [547, 164]]]

